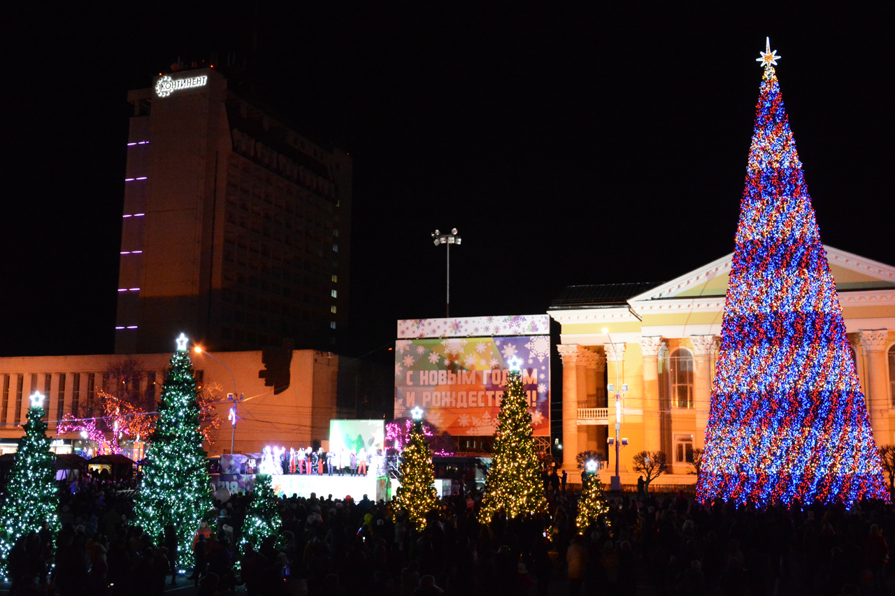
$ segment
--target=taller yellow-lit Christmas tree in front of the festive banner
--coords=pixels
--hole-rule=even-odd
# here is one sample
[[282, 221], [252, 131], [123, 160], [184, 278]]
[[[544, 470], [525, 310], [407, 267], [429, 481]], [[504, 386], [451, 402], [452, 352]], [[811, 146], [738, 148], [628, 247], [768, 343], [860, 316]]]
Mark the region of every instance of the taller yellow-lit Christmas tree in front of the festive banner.
[[522, 374], [514, 368], [507, 375], [507, 390], [500, 403], [480, 515], [482, 520], [490, 521], [503, 509], [512, 519], [546, 507], [541, 461], [532, 437], [532, 414], [528, 411]]

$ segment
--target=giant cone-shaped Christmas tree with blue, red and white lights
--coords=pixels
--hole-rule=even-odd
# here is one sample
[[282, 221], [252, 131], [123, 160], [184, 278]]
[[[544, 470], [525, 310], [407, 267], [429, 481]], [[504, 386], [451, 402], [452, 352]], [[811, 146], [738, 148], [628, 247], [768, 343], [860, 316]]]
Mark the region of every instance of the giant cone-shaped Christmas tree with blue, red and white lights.
[[697, 498], [888, 498], [770, 44]]

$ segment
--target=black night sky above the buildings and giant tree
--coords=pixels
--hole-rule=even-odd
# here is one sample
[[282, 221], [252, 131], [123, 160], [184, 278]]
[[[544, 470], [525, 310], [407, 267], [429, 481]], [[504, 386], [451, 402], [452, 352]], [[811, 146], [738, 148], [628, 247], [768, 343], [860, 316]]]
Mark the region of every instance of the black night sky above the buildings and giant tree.
[[112, 352], [126, 92], [254, 31], [258, 94], [354, 158], [350, 355], [444, 315], [435, 228], [456, 316], [732, 251], [766, 36], [823, 241], [895, 264], [891, 3], [91, 4], [4, 19], [0, 355]]

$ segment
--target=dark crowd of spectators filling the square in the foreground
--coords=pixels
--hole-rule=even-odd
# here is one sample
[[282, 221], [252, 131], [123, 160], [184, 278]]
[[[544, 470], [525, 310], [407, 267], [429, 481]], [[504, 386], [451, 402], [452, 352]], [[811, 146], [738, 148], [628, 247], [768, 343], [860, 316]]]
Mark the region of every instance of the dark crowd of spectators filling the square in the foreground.
[[[10, 553], [12, 593], [36, 593], [41, 581], [72, 596], [162, 593], [176, 541], [129, 523], [132, 488], [64, 487], [62, 531], [34, 532]], [[251, 498], [216, 501], [197, 528], [187, 571], [202, 596], [240, 585], [250, 596], [891, 593], [895, 510], [876, 501], [762, 508], [697, 504], [680, 493], [610, 496], [606, 519], [579, 532], [577, 495], [560, 490], [550, 490], [548, 512], [490, 524], [477, 515], [481, 493], [462, 492], [442, 498], [422, 528], [366, 496], [293, 496], [278, 500], [276, 535], [240, 548]]]

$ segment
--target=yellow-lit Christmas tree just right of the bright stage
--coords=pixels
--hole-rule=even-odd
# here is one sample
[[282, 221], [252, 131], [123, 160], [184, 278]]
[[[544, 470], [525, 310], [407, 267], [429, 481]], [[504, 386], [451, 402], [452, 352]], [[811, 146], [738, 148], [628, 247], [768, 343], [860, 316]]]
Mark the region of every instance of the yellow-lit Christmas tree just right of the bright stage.
[[[422, 411], [414, 410], [414, 418]], [[401, 486], [395, 497], [395, 507], [403, 509], [418, 530], [426, 525], [426, 515], [436, 507], [435, 471], [429, 444], [422, 435], [422, 421], [413, 422], [407, 444], [401, 452]]]

